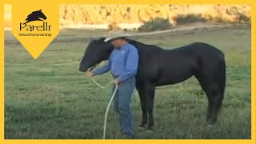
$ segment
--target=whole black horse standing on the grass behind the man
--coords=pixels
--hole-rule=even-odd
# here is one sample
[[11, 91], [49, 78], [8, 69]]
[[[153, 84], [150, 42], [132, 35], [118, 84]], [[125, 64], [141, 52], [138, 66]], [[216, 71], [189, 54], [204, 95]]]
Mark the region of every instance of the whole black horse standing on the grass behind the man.
[[[153, 106], [156, 86], [185, 81], [195, 76], [208, 98], [206, 121], [214, 124], [222, 106], [226, 85], [226, 62], [222, 51], [202, 42], [194, 42], [173, 50], [163, 50], [128, 39], [138, 49], [139, 64], [136, 89], [141, 101], [140, 127], [152, 130]], [[85, 72], [102, 60], [107, 60], [114, 47], [104, 38], [92, 40], [80, 62], [79, 70]], [[147, 124], [147, 126], [146, 126]]]

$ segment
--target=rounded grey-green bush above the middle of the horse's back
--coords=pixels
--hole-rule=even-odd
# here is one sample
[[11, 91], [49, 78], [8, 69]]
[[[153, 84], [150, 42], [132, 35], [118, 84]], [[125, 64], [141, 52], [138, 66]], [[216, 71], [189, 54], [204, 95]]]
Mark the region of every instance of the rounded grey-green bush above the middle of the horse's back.
[[139, 27], [139, 31], [155, 31], [155, 30], [168, 30], [173, 25], [165, 18], [154, 18], [148, 22], [144, 22], [144, 25]]

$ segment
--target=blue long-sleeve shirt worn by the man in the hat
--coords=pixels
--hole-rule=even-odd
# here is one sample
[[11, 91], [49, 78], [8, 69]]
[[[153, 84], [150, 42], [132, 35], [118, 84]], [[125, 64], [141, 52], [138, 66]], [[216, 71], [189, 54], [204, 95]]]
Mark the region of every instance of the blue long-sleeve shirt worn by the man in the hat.
[[119, 82], [137, 74], [138, 70], [138, 50], [128, 42], [120, 49], [114, 49], [105, 66], [94, 70], [94, 75], [104, 74], [110, 70], [114, 77], [118, 77]]

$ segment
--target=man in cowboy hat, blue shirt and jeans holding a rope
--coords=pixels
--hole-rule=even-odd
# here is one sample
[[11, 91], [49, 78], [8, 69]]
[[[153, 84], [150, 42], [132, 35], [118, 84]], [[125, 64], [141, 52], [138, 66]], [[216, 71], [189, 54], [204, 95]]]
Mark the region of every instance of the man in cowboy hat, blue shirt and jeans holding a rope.
[[[104, 74], [110, 70], [114, 85], [118, 90], [114, 96], [114, 108], [119, 116], [122, 133], [128, 138], [134, 137], [131, 97], [135, 87], [135, 75], [138, 70], [138, 50], [126, 41], [122, 31], [110, 32], [105, 42], [110, 41], [114, 50], [105, 66], [93, 72], [86, 72], [87, 77]], [[115, 86], [113, 87], [114, 91]]]

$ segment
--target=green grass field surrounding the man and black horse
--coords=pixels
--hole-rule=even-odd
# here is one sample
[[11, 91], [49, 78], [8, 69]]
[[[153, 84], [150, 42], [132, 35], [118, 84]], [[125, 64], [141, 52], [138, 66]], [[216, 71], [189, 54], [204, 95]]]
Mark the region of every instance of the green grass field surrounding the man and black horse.
[[[190, 42], [208, 42], [226, 54], [227, 70], [226, 94], [216, 126], [206, 125], [206, 95], [195, 78], [158, 87], [153, 134], [137, 129], [142, 112], [136, 91], [133, 110], [138, 138], [250, 138], [249, 29], [138, 41], [166, 49]], [[52, 43], [37, 60], [22, 46], [6, 45], [5, 138], [102, 138], [110, 89], [100, 90], [78, 71], [87, 44]], [[106, 84], [111, 77], [105, 74], [96, 79]], [[113, 109], [108, 117], [106, 138], [122, 138]]]

